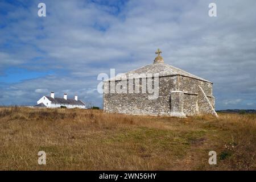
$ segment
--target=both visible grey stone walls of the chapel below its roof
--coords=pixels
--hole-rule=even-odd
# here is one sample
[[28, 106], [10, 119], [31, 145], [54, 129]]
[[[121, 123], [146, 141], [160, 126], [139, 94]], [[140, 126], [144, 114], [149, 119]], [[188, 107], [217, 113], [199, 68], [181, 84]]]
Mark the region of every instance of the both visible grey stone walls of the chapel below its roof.
[[[212, 83], [210, 82], [184, 76], [159, 77], [159, 96], [156, 100], [149, 100], [148, 96], [152, 94], [148, 92], [141, 93], [141, 88], [139, 89], [139, 93], [128, 93], [129, 81], [125, 82], [126, 84], [122, 86], [122, 89], [127, 90], [127, 93], [104, 93], [104, 110], [106, 112], [139, 115], [172, 115], [176, 110], [179, 111], [178, 113], [180, 115], [212, 113], [212, 111], [209, 112], [209, 104], [205, 104], [206, 100], [201, 96], [202, 93], [199, 86], [204, 90], [208, 98], [207, 100], [214, 108]], [[104, 82], [105, 89], [107, 88], [107, 83]], [[120, 81], [114, 82], [115, 85], [118, 83]], [[108, 90], [110, 92], [110, 84]], [[171, 93], [172, 91], [179, 92]], [[181, 104], [180, 101], [183, 103]]]

